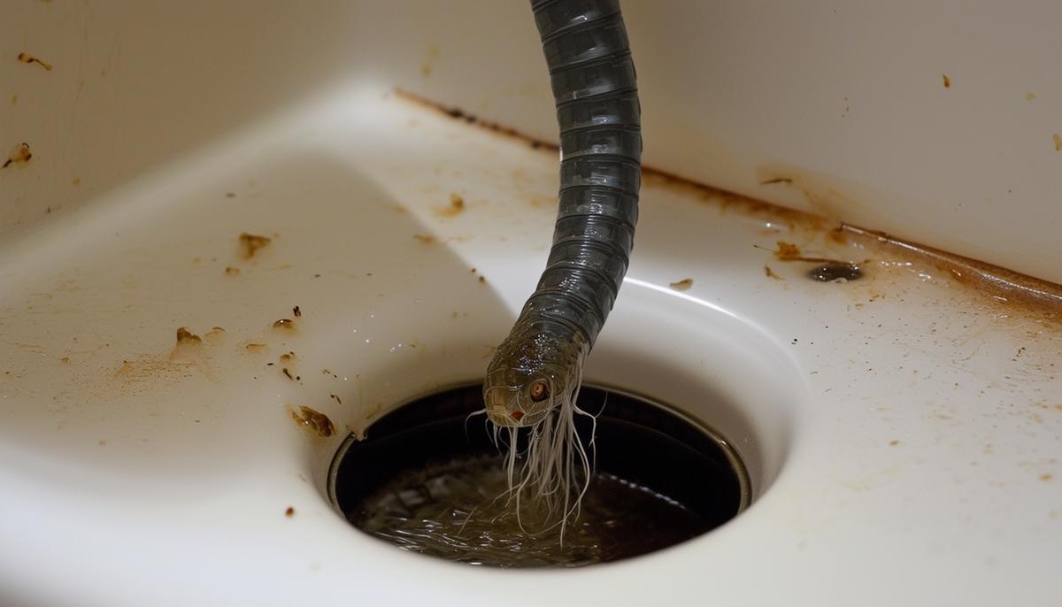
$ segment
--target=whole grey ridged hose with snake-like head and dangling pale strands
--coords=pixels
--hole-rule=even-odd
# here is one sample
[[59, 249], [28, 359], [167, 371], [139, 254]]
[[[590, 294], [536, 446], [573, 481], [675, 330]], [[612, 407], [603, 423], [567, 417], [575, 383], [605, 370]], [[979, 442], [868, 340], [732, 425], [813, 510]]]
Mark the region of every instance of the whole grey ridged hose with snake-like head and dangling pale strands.
[[[630, 259], [641, 184], [640, 105], [618, 0], [532, 0], [561, 132], [561, 189], [546, 270], [483, 384], [508, 429], [509, 492], [578, 517], [590, 457], [575, 428], [582, 368]], [[526, 451], [517, 429], [529, 428]], [[517, 462], [523, 459], [521, 465]]]

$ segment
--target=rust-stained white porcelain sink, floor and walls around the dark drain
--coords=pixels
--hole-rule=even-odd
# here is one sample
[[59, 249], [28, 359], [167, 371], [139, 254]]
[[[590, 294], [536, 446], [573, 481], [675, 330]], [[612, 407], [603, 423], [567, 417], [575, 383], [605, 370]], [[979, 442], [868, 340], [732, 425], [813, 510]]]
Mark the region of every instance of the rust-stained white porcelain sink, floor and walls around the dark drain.
[[[701, 58], [673, 82], [710, 74], [687, 91], [662, 75], [682, 39], [663, 29], [678, 4], [624, 5], [653, 163], [793, 205], [784, 186], [756, 185], [761, 164], [842, 176], [892, 192], [858, 198], [874, 202], [845, 219], [1060, 278], [1048, 162], [1062, 156], [1026, 152], [1062, 94], [1044, 75], [1057, 8], [683, 5]], [[0, 136], [34, 150], [0, 172], [0, 604], [1057, 603], [1059, 327], [837, 242], [829, 222], [660, 178], [644, 188], [633, 265], [587, 377], [717, 426], [750, 463], [752, 507], [675, 549], [580, 571], [458, 567], [362, 536], [324, 497], [335, 449], [392, 406], [480, 377], [541, 271], [555, 210], [555, 153], [390, 91], [549, 136], [525, 3], [8, 8], [0, 56], [28, 50], [54, 67], [0, 62], [18, 94], [0, 99]], [[493, 27], [467, 35], [473, 13]], [[1014, 44], [975, 35], [980, 19]], [[396, 36], [399, 22], [416, 33]], [[889, 29], [856, 35], [872, 22]], [[904, 28], [925, 32], [887, 35]], [[962, 52], [982, 39], [992, 56]], [[856, 60], [869, 48], [880, 57]], [[946, 90], [933, 65], [945, 56], [965, 66]], [[754, 69], [713, 67], [736, 57]], [[998, 67], [1008, 60], [1023, 69]], [[800, 77], [798, 64], [816, 68]], [[856, 77], [867, 64], [879, 77]], [[927, 97], [963, 94], [984, 128], [942, 109], [948, 98], [892, 86], [915, 77], [904, 66]], [[808, 84], [823, 80], [861, 88]], [[989, 111], [1010, 85], [1022, 109]], [[767, 89], [776, 97], [755, 94]], [[841, 111], [845, 96], [843, 119], [817, 114], [827, 101]], [[1028, 133], [996, 162], [987, 141], [1026, 108]], [[679, 122], [691, 111], [698, 128]], [[912, 143], [935, 128], [948, 153]], [[866, 141], [875, 156], [855, 152]], [[983, 201], [1015, 176], [1026, 180], [996, 214], [1003, 205]], [[874, 209], [888, 212], [858, 214]], [[244, 231], [272, 243], [244, 259]], [[808, 264], [770, 253], [777, 241], [872, 261], [859, 281], [817, 283]], [[669, 287], [685, 278], [689, 290]], [[294, 306], [298, 330], [275, 331]], [[174, 354], [178, 327], [203, 345]], [[297, 426], [299, 404], [337, 433]]]

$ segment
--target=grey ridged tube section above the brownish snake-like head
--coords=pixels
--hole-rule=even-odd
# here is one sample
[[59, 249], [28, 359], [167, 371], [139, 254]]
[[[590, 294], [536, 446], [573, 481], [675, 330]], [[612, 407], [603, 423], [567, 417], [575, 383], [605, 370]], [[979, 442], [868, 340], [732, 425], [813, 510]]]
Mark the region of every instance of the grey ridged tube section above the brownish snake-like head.
[[[561, 193], [546, 271], [521, 314], [592, 346], [627, 273], [641, 184], [638, 91], [617, 0], [534, 0], [561, 128]], [[526, 317], [527, 316], [527, 317]]]

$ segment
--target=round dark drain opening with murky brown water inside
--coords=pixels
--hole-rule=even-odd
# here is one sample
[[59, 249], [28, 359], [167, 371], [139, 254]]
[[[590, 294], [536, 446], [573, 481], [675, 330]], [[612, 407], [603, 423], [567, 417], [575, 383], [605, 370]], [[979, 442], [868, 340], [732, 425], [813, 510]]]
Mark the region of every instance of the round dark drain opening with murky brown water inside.
[[[481, 389], [429, 396], [382, 417], [364, 439], [348, 437], [328, 487], [347, 520], [447, 560], [580, 567], [686, 541], [748, 505], [744, 466], [714, 431], [663, 405], [584, 385], [580, 406], [601, 412], [596, 469], [562, 545], [559, 530], [535, 533], [526, 504], [518, 521], [507, 501], [503, 456], [483, 417], [468, 418], [483, 406]], [[588, 440], [589, 420], [577, 426]]]

